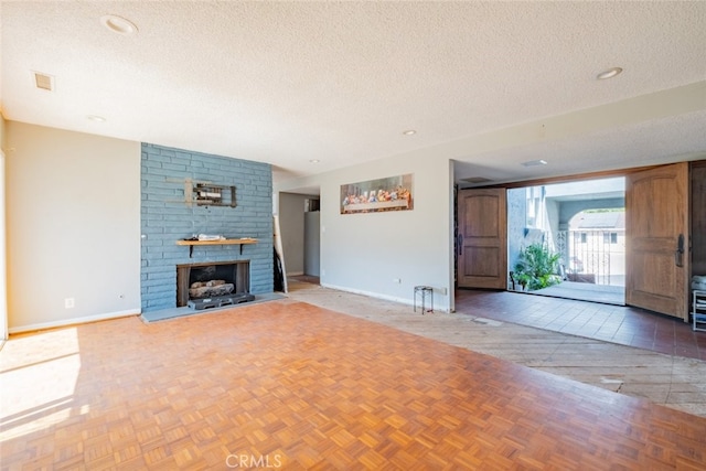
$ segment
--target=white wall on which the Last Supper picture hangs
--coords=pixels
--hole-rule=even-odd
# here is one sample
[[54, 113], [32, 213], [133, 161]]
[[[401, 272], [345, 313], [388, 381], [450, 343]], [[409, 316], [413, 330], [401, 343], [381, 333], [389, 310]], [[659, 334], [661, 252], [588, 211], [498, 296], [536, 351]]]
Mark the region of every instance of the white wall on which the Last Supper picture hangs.
[[[452, 308], [451, 162], [429, 152], [411, 152], [275, 185], [276, 191], [321, 189], [322, 286], [411, 303], [414, 286], [429, 285], [437, 288], [435, 309]], [[414, 210], [340, 214], [342, 184], [406, 173], [414, 174]]]

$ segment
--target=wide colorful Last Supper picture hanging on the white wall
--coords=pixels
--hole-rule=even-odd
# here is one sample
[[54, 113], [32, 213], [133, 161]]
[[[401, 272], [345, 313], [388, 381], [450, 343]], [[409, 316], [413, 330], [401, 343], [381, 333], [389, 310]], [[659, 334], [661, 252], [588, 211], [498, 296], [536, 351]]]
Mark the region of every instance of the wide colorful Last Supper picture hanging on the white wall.
[[414, 208], [411, 173], [341, 185], [341, 214]]

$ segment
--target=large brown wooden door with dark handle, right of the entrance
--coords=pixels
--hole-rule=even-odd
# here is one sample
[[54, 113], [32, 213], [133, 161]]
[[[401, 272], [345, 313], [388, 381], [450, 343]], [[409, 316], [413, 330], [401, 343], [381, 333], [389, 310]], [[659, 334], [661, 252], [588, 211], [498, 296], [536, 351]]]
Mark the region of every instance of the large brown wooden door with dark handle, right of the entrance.
[[688, 163], [631, 174], [625, 185], [625, 301], [688, 321]]

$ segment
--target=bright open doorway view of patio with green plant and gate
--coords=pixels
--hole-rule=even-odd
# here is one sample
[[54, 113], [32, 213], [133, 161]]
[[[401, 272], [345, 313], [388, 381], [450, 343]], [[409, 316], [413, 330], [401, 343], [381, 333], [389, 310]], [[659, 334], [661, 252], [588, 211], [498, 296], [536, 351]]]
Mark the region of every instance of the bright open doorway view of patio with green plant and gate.
[[625, 303], [625, 179], [507, 190], [510, 289]]

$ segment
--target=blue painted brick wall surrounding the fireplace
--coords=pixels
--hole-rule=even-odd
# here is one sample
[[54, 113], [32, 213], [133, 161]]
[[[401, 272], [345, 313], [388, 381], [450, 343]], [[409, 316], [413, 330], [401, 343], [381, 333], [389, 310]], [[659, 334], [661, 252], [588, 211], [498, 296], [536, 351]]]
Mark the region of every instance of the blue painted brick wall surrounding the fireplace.
[[[250, 260], [250, 292], [274, 290], [272, 172], [267, 163], [142, 143], [142, 312], [176, 307], [176, 265]], [[189, 206], [184, 182], [235, 186], [237, 206]], [[257, 244], [189, 247], [197, 234], [255, 237]]]

